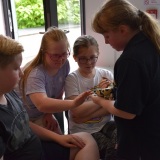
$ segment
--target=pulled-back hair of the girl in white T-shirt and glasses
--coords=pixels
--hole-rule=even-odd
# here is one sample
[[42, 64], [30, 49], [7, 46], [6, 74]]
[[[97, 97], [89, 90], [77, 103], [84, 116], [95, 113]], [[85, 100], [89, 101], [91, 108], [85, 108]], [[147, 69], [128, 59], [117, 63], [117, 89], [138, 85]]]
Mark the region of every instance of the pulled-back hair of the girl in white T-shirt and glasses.
[[96, 39], [90, 35], [82, 35], [78, 37], [73, 45], [73, 56], [77, 56], [80, 48], [88, 48], [90, 46], [95, 46], [96, 51], [99, 54], [99, 45]]

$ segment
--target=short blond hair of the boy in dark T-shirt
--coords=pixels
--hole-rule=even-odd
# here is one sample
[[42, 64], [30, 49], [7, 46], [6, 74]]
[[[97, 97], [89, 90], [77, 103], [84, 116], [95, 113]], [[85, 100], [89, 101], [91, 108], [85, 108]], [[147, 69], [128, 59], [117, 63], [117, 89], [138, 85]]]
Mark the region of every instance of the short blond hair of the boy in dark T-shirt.
[[24, 51], [23, 46], [10, 37], [0, 35], [0, 67], [10, 64], [17, 54]]

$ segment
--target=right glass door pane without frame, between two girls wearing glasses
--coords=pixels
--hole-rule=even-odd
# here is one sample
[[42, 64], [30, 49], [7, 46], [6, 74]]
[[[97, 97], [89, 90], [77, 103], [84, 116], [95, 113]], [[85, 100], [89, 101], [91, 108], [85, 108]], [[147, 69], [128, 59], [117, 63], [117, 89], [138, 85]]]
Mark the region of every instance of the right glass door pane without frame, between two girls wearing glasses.
[[[57, 0], [58, 27], [66, 31], [71, 53], [73, 43], [81, 35], [80, 1], [79, 0]], [[73, 56], [69, 57], [71, 71], [77, 69]]]

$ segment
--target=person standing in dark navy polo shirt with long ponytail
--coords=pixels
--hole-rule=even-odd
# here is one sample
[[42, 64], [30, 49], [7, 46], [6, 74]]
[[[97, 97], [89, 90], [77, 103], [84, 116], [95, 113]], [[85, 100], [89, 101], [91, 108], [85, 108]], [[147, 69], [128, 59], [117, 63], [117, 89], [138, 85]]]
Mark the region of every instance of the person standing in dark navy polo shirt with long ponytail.
[[114, 66], [115, 101], [92, 100], [115, 116], [117, 160], [160, 160], [160, 26], [127, 0], [109, 0], [93, 30], [122, 51]]

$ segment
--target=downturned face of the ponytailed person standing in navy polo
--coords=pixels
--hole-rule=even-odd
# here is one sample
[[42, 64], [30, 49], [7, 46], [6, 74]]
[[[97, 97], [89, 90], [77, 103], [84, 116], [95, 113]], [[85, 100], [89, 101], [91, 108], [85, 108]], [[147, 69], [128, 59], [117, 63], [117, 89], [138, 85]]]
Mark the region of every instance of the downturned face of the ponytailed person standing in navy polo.
[[128, 43], [128, 35], [125, 26], [120, 26], [114, 31], [105, 32], [103, 36], [105, 43], [110, 44], [117, 51], [124, 50]]

